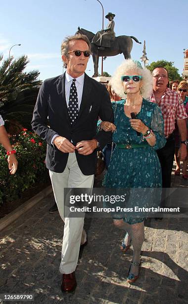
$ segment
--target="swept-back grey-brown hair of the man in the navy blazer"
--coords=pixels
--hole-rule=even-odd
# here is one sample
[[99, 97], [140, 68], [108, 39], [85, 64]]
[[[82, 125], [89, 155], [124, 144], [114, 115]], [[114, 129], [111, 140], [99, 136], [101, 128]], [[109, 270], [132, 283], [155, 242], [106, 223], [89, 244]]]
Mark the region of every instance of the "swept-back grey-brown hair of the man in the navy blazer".
[[[75, 40], [85, 41], [88, 44], [89, 51], [91, 52], [91, 43], [88, 37], [86, 35], [76, 34], [74, 36], [68, 36], [63, 40], [63, 42], [61, 43], [61, 56], [65, 55], [66, 57], [68, 57], [70, 42]], [[65, 62], [63, 62], [63, 67], [67, 68], [67, 64]]]

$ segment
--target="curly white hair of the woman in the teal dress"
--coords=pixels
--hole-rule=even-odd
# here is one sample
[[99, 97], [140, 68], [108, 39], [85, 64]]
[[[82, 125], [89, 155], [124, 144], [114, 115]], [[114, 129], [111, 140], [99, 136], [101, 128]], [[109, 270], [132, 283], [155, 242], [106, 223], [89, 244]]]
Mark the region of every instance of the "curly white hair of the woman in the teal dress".
[[110, 79], [111, 86], [116, 94], [123, 99], [126, 98], [121, 76], [127, 75], [127, 71], [134, 71], [136, 75], [142, 76], [141, 95], [143, 98], [148, 98], [152, 91], [151, 73], [146, 68], [142, 68], [139, 62], [133, 61], [132, 59], [124, 60], [124, 62], [117, 68], [114, 76]]

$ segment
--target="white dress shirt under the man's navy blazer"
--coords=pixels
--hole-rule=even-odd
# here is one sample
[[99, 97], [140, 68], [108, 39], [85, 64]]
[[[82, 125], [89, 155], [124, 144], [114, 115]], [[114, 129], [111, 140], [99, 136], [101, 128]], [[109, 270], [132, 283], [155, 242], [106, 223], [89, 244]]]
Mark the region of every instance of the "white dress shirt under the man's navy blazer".
[[[81, 76], [79, 76], [77, 78], [73, 78], [72, 76], [70, 76], [67, 73], [67, 71], [65, 72], [65, 98], [66, 98], [67, 108], [69, 106], [69, 96], [70, 96], [70, 87], [72, 84], [72, 79], [76, 79], [75, 85], [76, 85], [77, 94], [78, 94], [78, 109], [80, 110], [83, 87], [84, 87], [84, 76], [85, 76], [85, 74], [82, 74]], [[53, 135], [53, 137], [51, 139], [51, 144], [53, 144], [53, 140], [57, 136], [59, 136], [59, 135], [58, 134]]]

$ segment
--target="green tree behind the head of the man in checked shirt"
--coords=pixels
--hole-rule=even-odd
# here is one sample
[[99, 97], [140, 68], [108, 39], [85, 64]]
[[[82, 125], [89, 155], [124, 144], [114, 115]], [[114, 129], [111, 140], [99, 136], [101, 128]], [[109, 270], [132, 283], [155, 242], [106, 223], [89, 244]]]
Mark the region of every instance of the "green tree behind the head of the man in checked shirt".
[[164, 67], [168, 71], [169, 80], [183, 80], [183, 78], [180, 76], [178, 69], [174, 67], [173, 61], [166, 61], [166, 60], [158, 60], [152, 62], [150, 65], [148, 65], [146, 68], [149, 71], [153, 71], [156, 67]]

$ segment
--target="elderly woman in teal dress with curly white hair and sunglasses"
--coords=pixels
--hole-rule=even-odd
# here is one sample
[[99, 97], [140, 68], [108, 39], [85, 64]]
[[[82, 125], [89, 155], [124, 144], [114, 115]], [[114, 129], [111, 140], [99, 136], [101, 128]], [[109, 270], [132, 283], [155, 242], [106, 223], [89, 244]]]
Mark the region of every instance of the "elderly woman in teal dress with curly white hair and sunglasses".
[[[112, 103], [115, 126], [108, 122], [102, 122], [100, 126], [104, 131], [116, 128], [112, 138], [116, 147], [103, 185], [130, 189], [161, 187], [161, 167], [155, 150], [161, 149], [166, 140], [160, 108], [144, 99], [152, 89], [150, 72], [142, 69], [138, 61], [128, 59], [117, 69], [111, 84], [122, 100]], [[140, 199], [136, 197], [133, 204], [139, 206], [142, 199], [145, 199], [144, 195]], [[133, 244], [133, 260], [127, 277], [127, 281], [133, 283], [141, 268], [144, 218], [126, 213], [112, 217], [115, 226], [127, 231], [121, 249], [125, 252]]]

